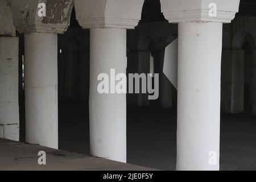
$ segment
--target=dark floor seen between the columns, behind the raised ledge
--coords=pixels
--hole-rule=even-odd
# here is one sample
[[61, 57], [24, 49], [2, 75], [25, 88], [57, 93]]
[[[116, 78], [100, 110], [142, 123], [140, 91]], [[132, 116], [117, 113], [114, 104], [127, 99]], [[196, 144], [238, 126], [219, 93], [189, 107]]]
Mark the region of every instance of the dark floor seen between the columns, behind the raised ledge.
[[[89, 154], [86, 104], [60, 102], [60, 149]], [[221, 117], [221, 170], [256, 170], [256, 118]], [[175, 170], [176, 111], [158, 107], [127, 108], [127, 163]]]

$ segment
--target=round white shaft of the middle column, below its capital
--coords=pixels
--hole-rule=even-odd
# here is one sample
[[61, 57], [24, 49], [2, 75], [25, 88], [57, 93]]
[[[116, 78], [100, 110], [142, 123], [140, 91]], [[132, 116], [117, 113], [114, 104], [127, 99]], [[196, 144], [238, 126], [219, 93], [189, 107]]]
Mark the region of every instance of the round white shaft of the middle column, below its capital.
[[115, 75], [126, 74], [126, 29], [93, 28], [90, 30], [90, 152], [93, 156], [126, 162], [126, 94], [110, 91], [100, 94], [97, 90], [100, 73], [109, 76], [109, 83], [115, 80], [110, 69], [115, 69]]

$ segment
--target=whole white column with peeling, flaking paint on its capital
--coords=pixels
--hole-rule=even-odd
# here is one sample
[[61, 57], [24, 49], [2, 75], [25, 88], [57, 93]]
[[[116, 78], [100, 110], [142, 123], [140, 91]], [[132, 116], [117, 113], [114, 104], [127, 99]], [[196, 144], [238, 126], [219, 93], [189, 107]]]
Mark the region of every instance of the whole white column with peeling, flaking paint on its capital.
[[[24, 33], [26, 142], [58, 148], [57, 34], [69, 26], [72, 0], [9, 0], [16, 30]], [[26, 16], [29, 15], [29, 16]]]

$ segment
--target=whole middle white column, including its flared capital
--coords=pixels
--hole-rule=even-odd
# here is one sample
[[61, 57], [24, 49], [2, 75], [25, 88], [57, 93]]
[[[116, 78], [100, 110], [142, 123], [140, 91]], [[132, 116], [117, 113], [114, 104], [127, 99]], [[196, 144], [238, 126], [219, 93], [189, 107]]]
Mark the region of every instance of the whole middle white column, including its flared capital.
[[[126, 162], [126, 94], [115, 93], [111, 80], [118, 73], [126, 74], [126, 29], [138, 25], [144, 0], [74, 2], [80, 26], [90, 29], [90, 152]], [[100, 73], [109, 77], [111, 92], [98, 93]]]

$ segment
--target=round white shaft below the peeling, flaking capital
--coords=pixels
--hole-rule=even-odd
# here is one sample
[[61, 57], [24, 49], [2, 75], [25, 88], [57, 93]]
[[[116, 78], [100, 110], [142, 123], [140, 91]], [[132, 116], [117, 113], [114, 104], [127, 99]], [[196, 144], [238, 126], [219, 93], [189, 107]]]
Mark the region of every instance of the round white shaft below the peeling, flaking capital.
[[25, 33], [26, 142], [58, 148], [57, 34]]

